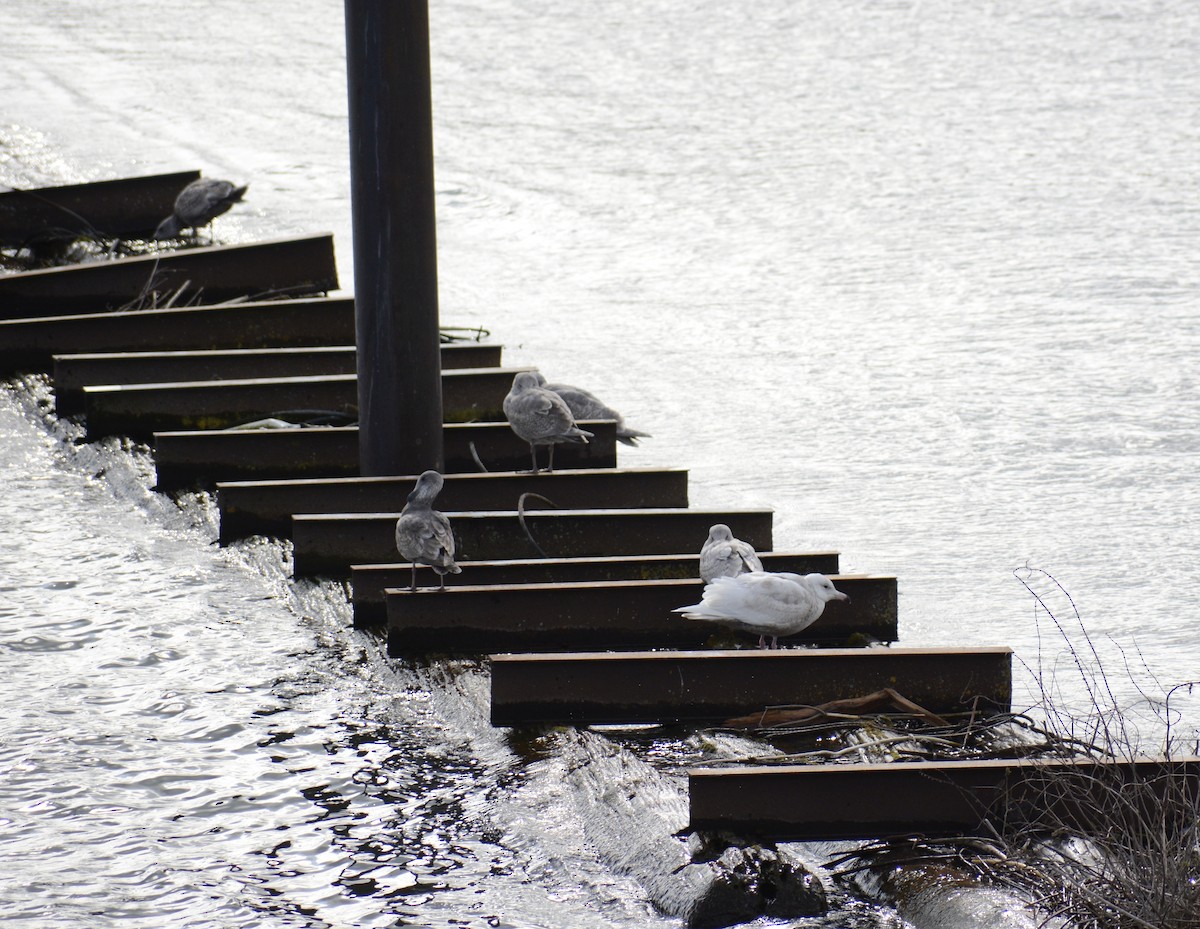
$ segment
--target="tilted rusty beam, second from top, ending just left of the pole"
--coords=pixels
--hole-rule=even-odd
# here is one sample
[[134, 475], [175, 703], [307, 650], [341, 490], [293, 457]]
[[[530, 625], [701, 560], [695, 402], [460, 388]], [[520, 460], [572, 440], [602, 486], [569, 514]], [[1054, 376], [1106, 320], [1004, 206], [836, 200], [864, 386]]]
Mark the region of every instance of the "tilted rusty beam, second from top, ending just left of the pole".
[[337, 289], [329, 234], [95, 262], [0, 276], [0, 318], [120, 310], [134, 301], [208, 304]]

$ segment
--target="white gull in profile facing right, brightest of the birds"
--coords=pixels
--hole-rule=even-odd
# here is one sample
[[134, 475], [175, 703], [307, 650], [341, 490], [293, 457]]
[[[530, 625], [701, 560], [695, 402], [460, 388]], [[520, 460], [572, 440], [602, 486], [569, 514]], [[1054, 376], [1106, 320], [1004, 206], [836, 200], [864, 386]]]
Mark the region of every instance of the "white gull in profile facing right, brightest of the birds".
[[779, 636], [796, 635], [815, 623], [829, 600], [850, 598], [823, 574], [751, 571], [718, 577], [704, 586], [698, 604], [672, 610], [685, 619], [706, 619], [758, 636], [758, 647], [779, 647]]

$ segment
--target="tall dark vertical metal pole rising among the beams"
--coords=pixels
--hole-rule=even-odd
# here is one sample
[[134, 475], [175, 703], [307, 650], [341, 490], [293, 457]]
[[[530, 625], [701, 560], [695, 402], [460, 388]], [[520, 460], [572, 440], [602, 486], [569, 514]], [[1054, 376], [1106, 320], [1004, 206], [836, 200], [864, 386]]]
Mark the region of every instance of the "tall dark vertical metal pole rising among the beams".
[[359, 456], [443, 467], [427, 0], [346, 0]]

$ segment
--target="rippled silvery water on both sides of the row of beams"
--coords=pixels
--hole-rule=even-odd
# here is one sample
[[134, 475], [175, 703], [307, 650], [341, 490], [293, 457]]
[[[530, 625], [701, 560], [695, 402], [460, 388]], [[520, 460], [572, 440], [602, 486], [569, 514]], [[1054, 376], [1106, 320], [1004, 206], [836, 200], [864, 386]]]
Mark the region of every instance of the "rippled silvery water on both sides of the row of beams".
[[[895, 574], [905, 643], [1061, 664], [1030, 563], [1110, 663], [1198, 676], [1194, 5], [431, 7], [444, 323], [594, 388], [695, 504]], [[8, 0], [0, 36], [0, 184], [248, 181], [218, 235], [332, 230], [353, 289], [341, 4]], [[16, 919], [660, 921], [481, 673], [389, 667], [37, 396], [0, 404]]]

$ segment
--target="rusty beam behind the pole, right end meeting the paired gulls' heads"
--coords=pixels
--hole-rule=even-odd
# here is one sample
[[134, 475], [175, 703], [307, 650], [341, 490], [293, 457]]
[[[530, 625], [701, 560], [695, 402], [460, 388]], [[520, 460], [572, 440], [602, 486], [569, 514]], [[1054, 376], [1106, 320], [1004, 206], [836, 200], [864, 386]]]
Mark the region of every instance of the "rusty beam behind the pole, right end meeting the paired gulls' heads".
[[[522, 368], [479, 367], [442, 374], [445, 422], [503, 421], [504, 395]], [[274, 416], [304, 419], [304, 410], [329, 410], [354, 420], [358, 377], [247, 378], [170, 384], [97, 384], [83, 388], [89, 440], [104, 436], [149, 439], [155, 432], [232, 428]]]

